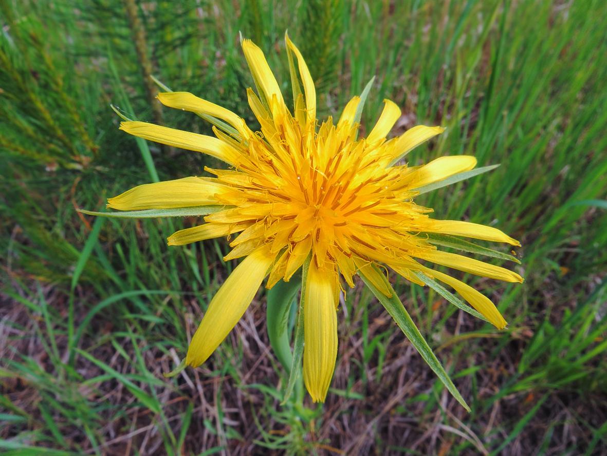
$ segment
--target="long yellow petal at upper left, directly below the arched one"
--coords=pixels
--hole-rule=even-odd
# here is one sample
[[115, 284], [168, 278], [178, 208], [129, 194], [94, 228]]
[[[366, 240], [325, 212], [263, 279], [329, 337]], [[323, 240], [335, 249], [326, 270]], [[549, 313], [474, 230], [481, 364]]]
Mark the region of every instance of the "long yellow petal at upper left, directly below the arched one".
[[161, 144], [209, 154], [230, 165], [236, 164], [240, 155], [237, 150], [212, 136], [176, 130], [153, 123], [121, 122], [120, 130]]

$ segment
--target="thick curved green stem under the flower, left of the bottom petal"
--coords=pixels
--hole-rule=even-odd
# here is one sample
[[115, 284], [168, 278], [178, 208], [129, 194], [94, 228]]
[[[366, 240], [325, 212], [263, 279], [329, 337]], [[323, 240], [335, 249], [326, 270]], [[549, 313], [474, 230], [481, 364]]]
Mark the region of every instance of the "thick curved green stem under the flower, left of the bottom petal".
[[291, 371], [291, 365], [293, 364], [288, 331], [289, 314], [300, 286], [299, 280], [293, 278], [289, 282], [279, 280], [276, 285], [268, 290], [268, 306], [266, 309], [268, 337], [276, 358], [287, 370], [287, 373]]

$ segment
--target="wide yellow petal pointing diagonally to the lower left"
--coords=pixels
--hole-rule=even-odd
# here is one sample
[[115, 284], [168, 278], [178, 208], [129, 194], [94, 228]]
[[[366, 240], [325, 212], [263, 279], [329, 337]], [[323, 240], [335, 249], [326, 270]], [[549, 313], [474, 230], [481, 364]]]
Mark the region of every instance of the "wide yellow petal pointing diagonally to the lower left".
[[192, 367], [202, 364], [222, 343], [255, 297], [275, 256], [267, 247], [260, 247], [232, 271], [209, 303], [192, 337], [186, 364]]

